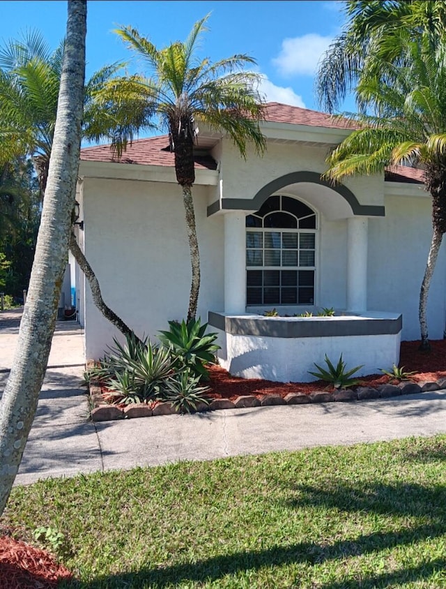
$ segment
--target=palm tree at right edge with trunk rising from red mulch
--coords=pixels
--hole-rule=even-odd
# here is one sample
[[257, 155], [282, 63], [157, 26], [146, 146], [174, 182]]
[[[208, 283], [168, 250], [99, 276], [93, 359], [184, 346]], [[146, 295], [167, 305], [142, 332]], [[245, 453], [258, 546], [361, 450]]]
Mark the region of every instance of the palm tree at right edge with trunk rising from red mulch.
[[433, 269], [446, 232], [446, 44], [430, 34], [412, 40], [407, 31], [392, 33], [397, 63], [374, 57], [374, 70], [360, 75], [357, 100], [373, 114], [352, 119], [358, 128], [328, 157], [326, 176], [383, 172], [389, 164], [424, 169], [432, 197], [433, 237], [420, 291], [420, 349], [428, 350], [426, 303]]

